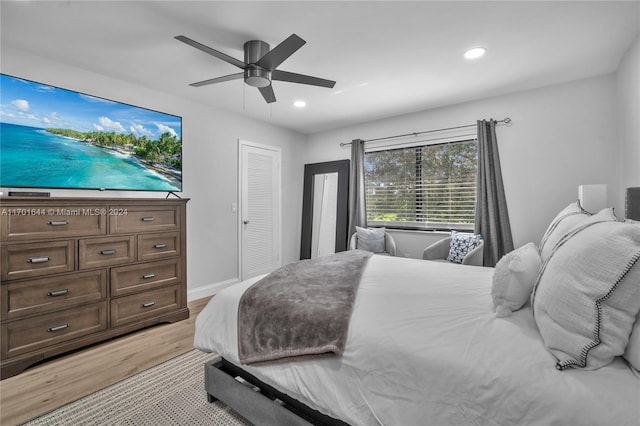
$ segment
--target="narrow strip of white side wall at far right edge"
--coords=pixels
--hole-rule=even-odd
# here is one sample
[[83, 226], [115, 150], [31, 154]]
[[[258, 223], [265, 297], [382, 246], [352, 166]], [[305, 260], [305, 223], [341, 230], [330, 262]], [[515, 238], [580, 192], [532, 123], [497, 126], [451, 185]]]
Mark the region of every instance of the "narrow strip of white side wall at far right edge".
[[[620, 61], [616, 74], [621, 187], [640, 186], [640, 36]], [[615, 194], [623, 205], [623, 194]], [[617, 210], [621, 216], [623, 210]]]

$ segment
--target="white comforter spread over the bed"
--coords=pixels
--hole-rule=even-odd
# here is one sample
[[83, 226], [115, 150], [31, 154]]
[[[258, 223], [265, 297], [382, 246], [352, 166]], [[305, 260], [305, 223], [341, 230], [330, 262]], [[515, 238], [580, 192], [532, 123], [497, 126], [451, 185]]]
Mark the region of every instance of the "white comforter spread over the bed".
[[[640, 377], [622, 359], [556, 370], [528, 307], [495, 318], [492, 274], [373, 256], [342, 357], [242, 367], [352, 425], [639, 425]], [[196, 348], [240, 365], [238, 300], [256, 280], [211, 300]]]

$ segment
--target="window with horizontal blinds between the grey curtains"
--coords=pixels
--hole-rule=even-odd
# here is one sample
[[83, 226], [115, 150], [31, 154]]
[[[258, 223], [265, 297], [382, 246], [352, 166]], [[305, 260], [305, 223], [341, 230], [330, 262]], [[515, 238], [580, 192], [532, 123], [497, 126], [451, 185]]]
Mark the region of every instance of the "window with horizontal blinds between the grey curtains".
[[477, 142], [365, 154], [367, 221], [404, 229], [473, 229]]

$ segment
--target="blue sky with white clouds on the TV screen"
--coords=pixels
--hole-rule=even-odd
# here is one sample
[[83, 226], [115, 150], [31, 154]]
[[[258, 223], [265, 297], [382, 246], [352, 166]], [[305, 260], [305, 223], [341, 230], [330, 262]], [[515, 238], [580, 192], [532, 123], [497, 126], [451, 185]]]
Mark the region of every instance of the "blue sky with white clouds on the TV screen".
[[181, 137], [180, 118], [0, 74], [0, 121], [39, 128]]

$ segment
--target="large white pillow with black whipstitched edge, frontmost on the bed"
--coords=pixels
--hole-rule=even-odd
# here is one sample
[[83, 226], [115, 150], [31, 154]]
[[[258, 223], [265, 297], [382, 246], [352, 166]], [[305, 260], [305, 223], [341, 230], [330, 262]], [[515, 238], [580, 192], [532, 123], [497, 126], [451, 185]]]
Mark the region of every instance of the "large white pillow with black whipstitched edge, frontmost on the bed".
[[560, 370], [622, 355], [640, 311], [640, 226], [608, 217], [603, 210], [563, 237], [534, 286], [535, 321]]

